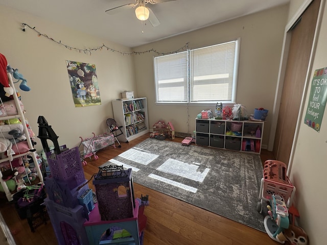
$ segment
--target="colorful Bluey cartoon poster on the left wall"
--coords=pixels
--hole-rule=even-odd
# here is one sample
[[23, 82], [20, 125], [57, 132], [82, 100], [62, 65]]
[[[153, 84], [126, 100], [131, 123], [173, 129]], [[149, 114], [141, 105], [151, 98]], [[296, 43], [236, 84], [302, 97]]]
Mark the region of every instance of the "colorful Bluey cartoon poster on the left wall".
[[95, 64], [66, 60], [75, 107], [101, 105]]

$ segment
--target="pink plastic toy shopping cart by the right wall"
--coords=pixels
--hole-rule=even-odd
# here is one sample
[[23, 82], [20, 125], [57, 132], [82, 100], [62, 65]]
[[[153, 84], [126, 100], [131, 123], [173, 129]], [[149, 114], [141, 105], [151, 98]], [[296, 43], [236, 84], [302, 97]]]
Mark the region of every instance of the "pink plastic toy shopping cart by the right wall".
[[286, 172], [287, 167], [284, 162], [277, 160], [265, 161], [259, 192], [260, 202], [256, 207], [258, 212], [262, 213], [263, 202], [268, 202], [272, 194], [282, 196], [287, 207], [292, 204], [295, 186], [292, 185]]

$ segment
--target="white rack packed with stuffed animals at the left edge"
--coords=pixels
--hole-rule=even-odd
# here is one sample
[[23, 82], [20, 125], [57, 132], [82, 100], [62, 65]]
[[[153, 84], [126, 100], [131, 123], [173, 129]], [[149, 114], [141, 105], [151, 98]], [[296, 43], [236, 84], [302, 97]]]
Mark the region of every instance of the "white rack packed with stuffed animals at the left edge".
[[34, 149], [35, 134], [25, 119], [24, 104], [18, 97], [13, 77], [17, 82], [21, 80], [21, 90], [30, 90], [18, 70], [12, 69], [0, 54], [0, 191], [8, 201], [13, 200], [17, 191], [43, 183], [41, 159]]

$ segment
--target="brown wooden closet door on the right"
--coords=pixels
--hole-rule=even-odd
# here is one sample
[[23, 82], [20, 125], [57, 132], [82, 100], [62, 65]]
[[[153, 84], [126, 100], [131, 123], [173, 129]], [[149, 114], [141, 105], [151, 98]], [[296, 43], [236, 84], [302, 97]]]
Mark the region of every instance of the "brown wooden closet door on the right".
[[306, 82], [320, 0], [314, 0], [289, 31], [291, 41], [279, 108], [273, 154], [288, 165]]

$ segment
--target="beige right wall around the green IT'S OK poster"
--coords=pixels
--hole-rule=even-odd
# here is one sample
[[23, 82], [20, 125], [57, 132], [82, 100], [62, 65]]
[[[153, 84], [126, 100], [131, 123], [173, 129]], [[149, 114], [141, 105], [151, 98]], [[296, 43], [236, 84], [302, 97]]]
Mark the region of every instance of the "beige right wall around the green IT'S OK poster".
[[[300, 6], [297, 1], [292, 0], [291, 6]], [[325, 1], [321, 0], [325, 5]], [[293, 11], [293, 13], [295, 13]], [[292, 14], [292, 13], [290, 13]], [[306, 109], [309, 101], [310, 83], [314, 70], [327, 66], [325, 40], [327, 38], [327, 8], [324, 6], [321, 12], [322, 20], [320, 31], [316, 39], [317, 46], [314, 51], [313, 67], [310, 71], [306, 99], [303, 103], [302, 117], [299, 121], [299, 133], [295, 146], [294, 159], [290, 173], [290, 179], [296, 187], [295, 206], [300, 213], [300, 226], [308, 233], [311, 245], [325, 244], [327, 233], [325, 212], [327, 178], [327, 118], [324, 115], [321, 122], [320, 132], [309, 128], [304, 124]], [[290, 16], [289, 19], [291, 19]], [[326, 110], [325, 110], [326, 113]]]

